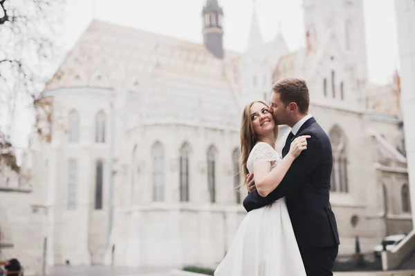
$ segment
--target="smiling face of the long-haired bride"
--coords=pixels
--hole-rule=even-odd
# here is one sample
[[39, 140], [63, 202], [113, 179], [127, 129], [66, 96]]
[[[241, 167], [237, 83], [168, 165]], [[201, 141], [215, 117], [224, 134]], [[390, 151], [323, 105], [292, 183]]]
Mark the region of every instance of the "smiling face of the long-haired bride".
[[273, 114], [264, 103], [254, 103], [250, 108], [250, 119], [257, 137], [274, 133], [275, 121]]

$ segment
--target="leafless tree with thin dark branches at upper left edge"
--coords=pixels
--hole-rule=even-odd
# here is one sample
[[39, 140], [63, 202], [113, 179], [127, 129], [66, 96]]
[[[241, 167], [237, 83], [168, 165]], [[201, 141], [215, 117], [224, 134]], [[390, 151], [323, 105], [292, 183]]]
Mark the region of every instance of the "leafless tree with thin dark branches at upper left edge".
[[57, 28], [65, 0], [0, 0], [0, 163], [18, 170], [10, 134], [24, 107], [39, 135], [39, 117], [50, 119], [51, 103], [42, 95], [56, 57]]

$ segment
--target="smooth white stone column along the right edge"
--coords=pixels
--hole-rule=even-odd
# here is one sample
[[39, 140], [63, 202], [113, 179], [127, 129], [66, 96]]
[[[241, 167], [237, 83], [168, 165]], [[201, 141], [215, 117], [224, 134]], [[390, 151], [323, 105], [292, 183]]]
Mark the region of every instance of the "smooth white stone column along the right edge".
[[415, 1], [395, 0], [400, 57], [400, 106], [405, 129], [405, 148], [415, 225]]

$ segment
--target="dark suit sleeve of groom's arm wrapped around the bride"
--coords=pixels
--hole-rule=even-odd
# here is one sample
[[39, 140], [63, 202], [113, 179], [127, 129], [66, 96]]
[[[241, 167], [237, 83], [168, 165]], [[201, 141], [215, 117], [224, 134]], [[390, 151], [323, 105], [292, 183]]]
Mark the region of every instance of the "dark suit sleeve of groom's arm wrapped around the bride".
[[[302, 133], [302, 135], [308, 135]], [[281, 183], [266, 197], [261, 197], [257, 190], [253, 190], [243, 200], [243, 207], [249, 212], [257, 208], [267, 206], [275, 200], [289, 195], [304, 184], [306, 179], [317, 168], [322, 157], [322, 143], [317, 137], [307, 139], [307, 149], [304, 150], [293, 162]]]

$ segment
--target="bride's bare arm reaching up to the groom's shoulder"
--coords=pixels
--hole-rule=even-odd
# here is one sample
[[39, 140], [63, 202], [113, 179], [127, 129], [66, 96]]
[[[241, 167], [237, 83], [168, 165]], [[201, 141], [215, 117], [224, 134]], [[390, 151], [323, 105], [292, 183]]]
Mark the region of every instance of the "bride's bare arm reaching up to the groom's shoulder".
[[302, 150], [306, 149], [306, 146], [302, 145], [306, 137], [297, 137], [291, 144], [288, 154], [279, 161], [277, 166], [271, 170], [271, 161], [256, 162], [254, 164], [254, 180], [255, 187], [261, 197], [266, 197], [271, 193], [284, 179], [288, 169], [293, 164], [293, 161], [298, 157]]

